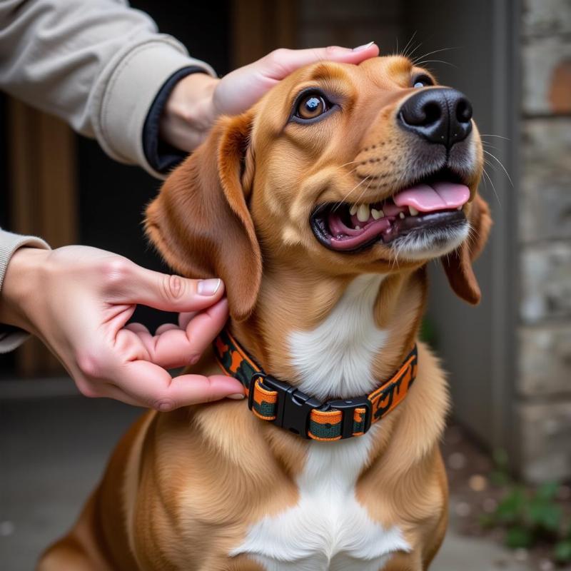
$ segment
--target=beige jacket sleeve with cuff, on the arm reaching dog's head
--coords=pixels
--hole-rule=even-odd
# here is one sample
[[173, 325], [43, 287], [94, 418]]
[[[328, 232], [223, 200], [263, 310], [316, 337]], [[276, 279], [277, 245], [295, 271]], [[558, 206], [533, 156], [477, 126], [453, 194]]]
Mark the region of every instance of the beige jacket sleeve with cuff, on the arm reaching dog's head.
[[143, 125], [164, 82], [200, 66], [124, 0], [0, 1], [0, 85], [95, 137], [109, 156], [154, 172]]

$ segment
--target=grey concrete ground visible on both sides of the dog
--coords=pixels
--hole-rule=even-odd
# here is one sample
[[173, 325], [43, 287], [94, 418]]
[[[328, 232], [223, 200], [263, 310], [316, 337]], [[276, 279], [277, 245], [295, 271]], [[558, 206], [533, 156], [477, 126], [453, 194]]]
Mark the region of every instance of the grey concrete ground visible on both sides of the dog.
[[[139, 414], [76, 396], [68, 380], [0, 381], [2, 571], [34, 568], [46, 545], [74, 522], [113, 445]], [[454, 519], [431, 569], [530, 571], [495, 543], [460, 537]]]

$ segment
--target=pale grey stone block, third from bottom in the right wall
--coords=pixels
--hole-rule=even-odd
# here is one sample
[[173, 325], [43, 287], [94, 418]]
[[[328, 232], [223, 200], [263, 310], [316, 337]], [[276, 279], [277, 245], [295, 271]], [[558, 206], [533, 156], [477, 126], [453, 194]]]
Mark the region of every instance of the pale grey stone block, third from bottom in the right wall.
[[571, 318], [571, 243], [526, 246], [520, 261], [523, 322]]

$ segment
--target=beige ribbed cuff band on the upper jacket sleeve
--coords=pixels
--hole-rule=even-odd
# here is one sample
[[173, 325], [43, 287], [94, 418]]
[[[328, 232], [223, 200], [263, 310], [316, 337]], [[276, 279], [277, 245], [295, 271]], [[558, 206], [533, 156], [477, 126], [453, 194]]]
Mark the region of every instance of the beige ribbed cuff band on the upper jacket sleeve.
[[160, 172], [148, 162], [143, 148], [143, 126], [158, 92], [177, 71], [196, 67], [216, 76], [203, 61], [190, 58], [186, 49], [170, 36], [153, 36], [115, 61], [101, 81], [106, 89], [96, 94], [98, 113], [94, 130], [103, 150], [121, 163], [138, 163], [157, 178]]

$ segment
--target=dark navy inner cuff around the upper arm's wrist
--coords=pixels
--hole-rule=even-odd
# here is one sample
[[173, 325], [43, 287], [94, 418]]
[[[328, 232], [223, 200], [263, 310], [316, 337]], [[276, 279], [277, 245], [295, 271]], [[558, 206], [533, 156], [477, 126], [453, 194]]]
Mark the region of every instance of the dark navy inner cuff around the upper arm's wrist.
[[204, 69], [198, 66], [189, 66], [175, 71], [163, 84], [161, 91], [158, 92], [153, 103], [151, 103], [151, 108], [148, 110], [143, 126], [143, 152], [151, 168], [162, 175], [168, 173], [168, 171], [188, 156], [188, 152], [181, 151], [181, 149], [173, 147], [165, 141], [161, 141], [159, 136], [161, 116], [168, 96], [171, 95], [174, 86], [176, 86], [178, 81], [181, 81], [183, 77], [203, 73]]

